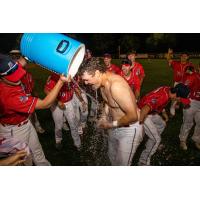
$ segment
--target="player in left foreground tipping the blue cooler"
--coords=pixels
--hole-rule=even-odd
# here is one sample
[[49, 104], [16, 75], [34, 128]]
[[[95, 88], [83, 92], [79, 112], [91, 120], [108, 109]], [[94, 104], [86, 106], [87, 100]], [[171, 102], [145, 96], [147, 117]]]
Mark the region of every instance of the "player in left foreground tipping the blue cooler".
[[50, 165], [29, 117], [36, 109], [49, 108], [69, 78], [61, 76], [53, 90], [42, 100], [28, 96], [24, 91], [21, 79], [25, 74], [20, 63], [0, 55], [0, 136], [13, 137], [28, 144], [35, 165]]

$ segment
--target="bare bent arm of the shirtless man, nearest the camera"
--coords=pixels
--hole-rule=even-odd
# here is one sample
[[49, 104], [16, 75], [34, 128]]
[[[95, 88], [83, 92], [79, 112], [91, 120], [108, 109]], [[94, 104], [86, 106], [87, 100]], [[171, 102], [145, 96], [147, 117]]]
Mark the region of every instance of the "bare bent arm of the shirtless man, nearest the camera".
[[117, 127], [127, 126], [137, 122], [136, 99], [128, 84], [124, 82], [114, 82], [111, 86], [111, 95], [125, 114], [122, 118], [117, 120]]

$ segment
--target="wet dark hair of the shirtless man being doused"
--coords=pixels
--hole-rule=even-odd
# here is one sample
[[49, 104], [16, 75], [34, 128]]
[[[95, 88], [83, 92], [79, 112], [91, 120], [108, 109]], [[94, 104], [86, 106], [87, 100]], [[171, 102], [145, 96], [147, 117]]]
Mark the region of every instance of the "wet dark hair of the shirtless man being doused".
[[107, 69], [100, 63], [98, 58], [91, 58], [90, 60], [86, 60], [81, 64], [79, 75], [83, 75], [84, 72], [94, 75], [96, 70], [99, 70], [101, 73], [105, 73]]

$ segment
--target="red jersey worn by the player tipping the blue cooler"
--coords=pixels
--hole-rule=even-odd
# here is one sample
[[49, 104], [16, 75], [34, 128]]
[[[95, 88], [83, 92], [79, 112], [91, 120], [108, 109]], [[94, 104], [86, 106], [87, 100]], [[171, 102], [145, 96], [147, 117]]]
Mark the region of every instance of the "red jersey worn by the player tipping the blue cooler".
[[19, 124], [34, 112], [37, 98], [28, 96], [21, 85], [0, 81], [0, 88], [0, 123]]

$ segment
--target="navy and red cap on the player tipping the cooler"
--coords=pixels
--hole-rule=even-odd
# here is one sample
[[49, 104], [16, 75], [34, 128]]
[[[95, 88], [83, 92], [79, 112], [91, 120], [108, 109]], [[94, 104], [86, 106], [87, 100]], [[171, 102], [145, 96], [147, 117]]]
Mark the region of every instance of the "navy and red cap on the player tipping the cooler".
[[11, 82], [17, 82], [25, 74], [26, 71], [21, 64], [13, 61], [9, 56], [0, 54], [0, 77], [4, 77]]

